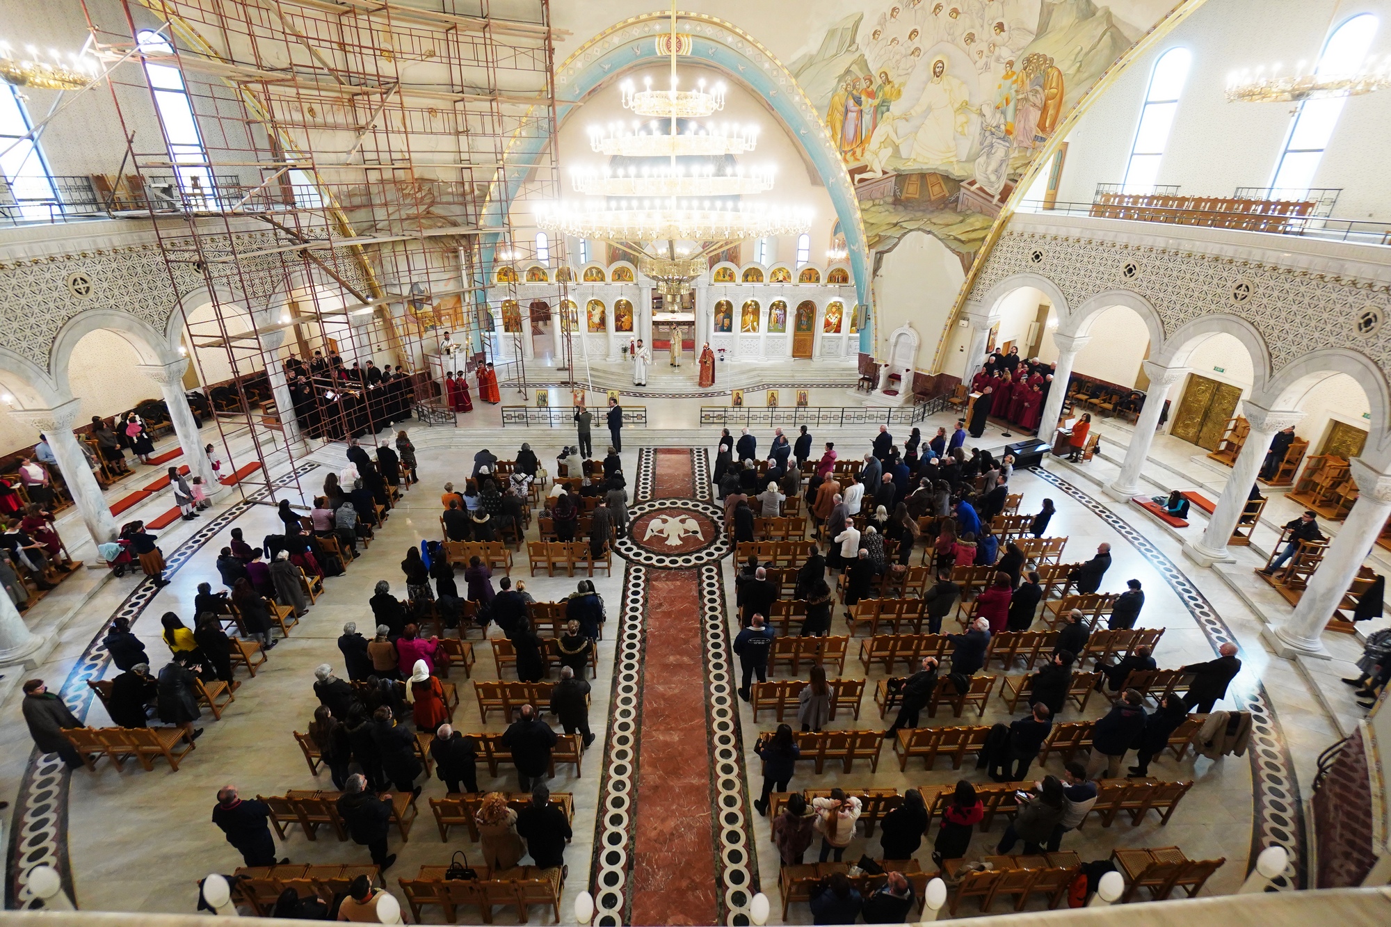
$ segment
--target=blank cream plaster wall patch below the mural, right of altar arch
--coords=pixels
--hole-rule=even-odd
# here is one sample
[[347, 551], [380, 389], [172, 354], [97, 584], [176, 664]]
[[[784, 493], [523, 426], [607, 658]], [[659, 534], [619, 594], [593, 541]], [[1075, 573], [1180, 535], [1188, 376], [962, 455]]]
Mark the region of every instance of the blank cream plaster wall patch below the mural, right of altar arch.
[[922, 231], [904, 235], [899, 246], [883, 256], [874, 278], [879, 315], [875, 356], [889, 349], [889, 333], [911, 322], [921, 335], [915, 366], [928, 369], [964, 281], [961, 262], [946, 245]]

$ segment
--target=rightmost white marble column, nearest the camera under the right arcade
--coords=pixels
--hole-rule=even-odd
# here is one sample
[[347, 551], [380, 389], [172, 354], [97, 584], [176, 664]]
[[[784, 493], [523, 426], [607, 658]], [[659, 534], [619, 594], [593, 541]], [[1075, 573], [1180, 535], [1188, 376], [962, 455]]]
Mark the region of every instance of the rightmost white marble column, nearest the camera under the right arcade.
[[1295, 614], [1278, 626], [1267, 625], [1266, 639], [1281, 657], [1330, 658], [1320, 640], [1323, 629], [1358, 576], [1387, 518], [1391, 518], [1391, 473], [1374, 470], [1358, 458], [1352, 458], [1351, 469], [1352, 479], [1358, 482], [1358, 501], [1328, 544], [1319, 569], [1309, 578]]

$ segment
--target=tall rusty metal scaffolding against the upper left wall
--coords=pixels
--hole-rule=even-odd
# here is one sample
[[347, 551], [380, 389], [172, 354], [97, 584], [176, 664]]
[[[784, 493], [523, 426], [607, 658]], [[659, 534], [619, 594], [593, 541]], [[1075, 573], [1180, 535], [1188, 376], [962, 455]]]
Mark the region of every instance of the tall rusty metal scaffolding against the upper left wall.
[[[287, 405], [305, 437], [391, 425], [349, 415], [341, 384], [292, 398], [287, 359], [403, 365], [420, 404], [506, 337], [494, 319], [517, 299], [517, 267], [540, 260], [517, 203], [559, 193], [549, 1], [120, 4], [122, 31], [88, 15], [95, 52], [124, 58], [110, 89], [128, 152], [106, 207], [153, 219], [171, 284], [206, 288], [207, 305], [181, 305], [188, 349], [204, 386], [230, 370], [225, 452], [249, 436], [262, 468], [241, 487], [274, 500], [271, 466], [294, 473], [303, 447]], [[563, 249], [540, 263], [562, 267]], [[559, 310], [569, 359], [568, 281], [548, 276], [555, 292], [523, 316]], [[447, 331], [462, 354], [440, 355]], [[271, 395], [274, 413], [253, 408]]]

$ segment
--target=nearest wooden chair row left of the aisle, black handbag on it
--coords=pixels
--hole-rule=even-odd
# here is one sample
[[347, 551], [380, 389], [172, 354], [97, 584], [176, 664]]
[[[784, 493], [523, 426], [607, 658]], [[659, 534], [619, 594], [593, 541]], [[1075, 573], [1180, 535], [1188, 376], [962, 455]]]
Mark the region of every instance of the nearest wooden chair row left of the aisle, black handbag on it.
[[458, 923], [460, 908], [477, 908], [483, 923], [492, 923], [494, 908], [517, 909], [517, 923], [527, 923], [533, 905], [549, 908], [555, 923], [561, 923], [561, 891], [565, 885], [562, 869], [517, 866], [490, 871], [487, 866], [473, 866], [477, 878], [445, 878], [448, 866], [421, 866], [416, 878], [399, 878], [401, 892], [410, 905], [415, 923], [424, 923], [420, 910], [438, 905], [448, 923]]

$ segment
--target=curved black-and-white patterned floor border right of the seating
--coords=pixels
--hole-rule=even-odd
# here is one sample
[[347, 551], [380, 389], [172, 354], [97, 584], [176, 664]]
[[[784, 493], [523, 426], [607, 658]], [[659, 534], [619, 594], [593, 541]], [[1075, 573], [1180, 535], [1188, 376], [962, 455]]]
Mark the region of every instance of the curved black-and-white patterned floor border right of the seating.
[[[1106, 504], [1056, 473], [1038, 466], [1029, 468], [1029, 472], [1071, 496], [1129, 541], [1178, 594], [1214, 651], [1220, 644], [1238, 643], [1231, 628], [1221, 619], [1202, 590], [1143, 533]], [[1255, 821], [1251, 832], [1248, 866], [1255, 866], [1256, 856], [1262, 849], [1278, 843], [1289, 853], [1291, 863], [1284, 874], [1273, 880], [1273, 885], [1278, 889], [1302, 888], [1308, 881], [1308, 855], [1303, 835], [1303, 803], [1299, 799], [1299, 781], [1295, 778], [1294, 759], [1281, 734], [1276, 708], [1266, 695], [1266, 688], [1257, 682], [1256, 688], [1244, 696], [1244, 702], [1242, 710], [1251, 713], [1252, 818]]]

